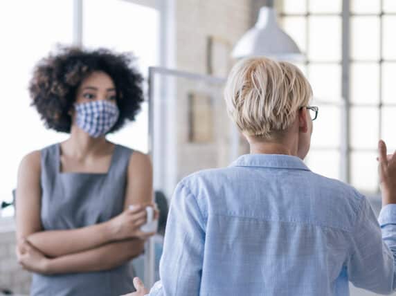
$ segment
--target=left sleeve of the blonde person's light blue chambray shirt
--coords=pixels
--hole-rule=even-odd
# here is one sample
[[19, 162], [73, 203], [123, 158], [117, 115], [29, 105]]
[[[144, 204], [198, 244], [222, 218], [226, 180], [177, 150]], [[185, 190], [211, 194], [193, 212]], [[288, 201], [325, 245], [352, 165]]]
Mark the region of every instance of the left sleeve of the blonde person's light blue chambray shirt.
[[190, 189], [179, 183], [172, 197], [159, 274], [150, 296], [199, 295], [205, 242], [204, 216]]

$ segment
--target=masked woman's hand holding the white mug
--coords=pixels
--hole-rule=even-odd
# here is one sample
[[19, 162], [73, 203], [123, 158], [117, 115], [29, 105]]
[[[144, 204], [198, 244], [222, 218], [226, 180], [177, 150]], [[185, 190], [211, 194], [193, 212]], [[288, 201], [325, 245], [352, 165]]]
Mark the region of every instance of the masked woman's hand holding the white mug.
[[[158, 217], [158, 211], [156, 211], [155, 217]], [[154, 235], [155, 232], [143, 232], [140, 230], [146, 221], [147, 213], [145, 207], [136, 205], [133, 210], [125, 210], [109, 221], [111, 235], [114, 240], [147, 239]]]

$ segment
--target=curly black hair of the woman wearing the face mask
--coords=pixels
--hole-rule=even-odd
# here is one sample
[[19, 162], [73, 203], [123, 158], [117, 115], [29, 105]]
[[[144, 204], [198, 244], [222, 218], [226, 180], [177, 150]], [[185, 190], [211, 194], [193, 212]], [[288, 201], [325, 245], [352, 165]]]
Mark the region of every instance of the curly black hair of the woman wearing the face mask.
[[116, 104], [119, 118], [109, 131], [117, 131], [127, 121], [133, 121], [144, 100], [142, 75], [132, 65], [130, 53], [113, 53], [100, 48], [83, 50], [59, 47], [35, 66], [29, 91], [32, 105], [41, 115], [48, 129], [69, 133], [71, 115], [78, 86], [95, 71], [111, 77], [116, 86]]

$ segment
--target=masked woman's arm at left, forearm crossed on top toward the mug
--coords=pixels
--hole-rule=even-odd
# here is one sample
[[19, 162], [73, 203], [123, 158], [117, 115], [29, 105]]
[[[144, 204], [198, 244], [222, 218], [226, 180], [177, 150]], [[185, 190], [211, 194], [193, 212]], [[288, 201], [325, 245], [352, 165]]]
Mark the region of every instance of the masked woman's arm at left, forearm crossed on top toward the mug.
[[[17, 240], [27, 239], [47, 257], [60, 257], [97, 248], [105, 243], [132, 238], [145, 212], [136, 208], [96, 225], [74, 230], [43, 231], [41, 209], [41, 156], [28, 154], [19, 167], [17, 186]], [[136, 227], [135, 227], [136, 226]], [[138, 234], [136, 234], [138, 235]]]

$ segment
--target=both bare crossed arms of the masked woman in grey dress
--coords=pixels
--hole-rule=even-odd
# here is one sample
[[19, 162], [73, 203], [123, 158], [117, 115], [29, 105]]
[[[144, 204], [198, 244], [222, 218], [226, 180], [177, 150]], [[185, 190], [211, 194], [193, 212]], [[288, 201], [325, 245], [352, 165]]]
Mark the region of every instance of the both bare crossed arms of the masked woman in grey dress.
[[[35, 151], [26, 156], [19, 167], [16, 219], [17, 255], [21, 265], [31, 271], [51, 274], [89, 272], [115, 268], [143, 252], [144, 240], [150, 234], [132, 230], [132, 226], [145, 223], [145, 212], [141, 208], [133, 212], [126, 210], [97, 225], [43, 231], [40, 158], [39, 151]], [[152, 203], [150, 159], [134, 152], [127, 174], [125, 208], [131, 204]]]

